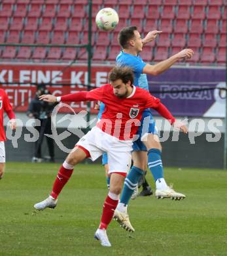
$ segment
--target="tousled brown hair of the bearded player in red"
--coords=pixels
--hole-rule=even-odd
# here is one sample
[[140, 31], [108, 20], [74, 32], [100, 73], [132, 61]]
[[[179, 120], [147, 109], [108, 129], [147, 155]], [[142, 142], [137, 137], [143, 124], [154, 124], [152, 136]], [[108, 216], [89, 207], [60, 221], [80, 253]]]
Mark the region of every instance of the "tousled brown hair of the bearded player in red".
[[134, 81], [133, 70], [127, 66], [114, 66], [109, 73], [109, 81], [113, 82], [118, 79], [122, 79], [123, 83], [128, 83], [128, 81], [131, 81], [132, 85]]

